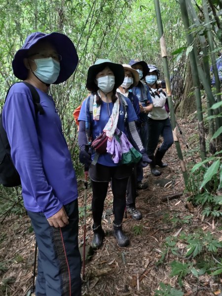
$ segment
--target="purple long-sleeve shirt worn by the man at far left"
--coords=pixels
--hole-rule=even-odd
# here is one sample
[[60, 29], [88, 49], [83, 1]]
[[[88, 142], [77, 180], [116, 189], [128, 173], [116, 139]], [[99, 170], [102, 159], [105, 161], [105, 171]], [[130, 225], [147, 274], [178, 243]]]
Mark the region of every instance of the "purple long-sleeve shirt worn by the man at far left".
[[77, 182], [55, 103], [51, 96], [37, 92], [43, 115], [36, 114], [29, 88], [16, 83], [8, 93], [2, 119], [25, 208], [49, 218], [77, 198]]

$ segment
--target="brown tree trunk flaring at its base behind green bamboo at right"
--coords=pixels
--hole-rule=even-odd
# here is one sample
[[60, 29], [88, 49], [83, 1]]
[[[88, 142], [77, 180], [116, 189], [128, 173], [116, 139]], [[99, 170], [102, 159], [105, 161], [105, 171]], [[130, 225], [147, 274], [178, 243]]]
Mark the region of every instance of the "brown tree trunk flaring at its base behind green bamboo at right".
[[190, 64], [188, 63], [187, 73], [185, 77], [185, 88], [181, 102], [176, 108], [176, 115], [179, 117], [187, 117], [196, 111], [195, 94], [193, 89], [193, 79]]

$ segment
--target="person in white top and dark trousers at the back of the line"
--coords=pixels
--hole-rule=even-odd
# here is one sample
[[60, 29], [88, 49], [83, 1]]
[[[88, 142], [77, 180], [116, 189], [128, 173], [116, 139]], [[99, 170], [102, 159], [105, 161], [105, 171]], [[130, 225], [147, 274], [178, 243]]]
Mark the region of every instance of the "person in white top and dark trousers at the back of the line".
[[[150, 95], [152, 96], [153, 109], [148, 114], [148, 148], [147, 152], [152, 162], [149, 164], [151, 173], [159, 176], [161, 172], [157, 170], [156, 165], [161, 168], [167, 166], [162, 162], [162, 158], [166, 151], [173, 145], [173, 132], [170, 123], [170, 110], [166, 93], [162, 88], [158, 88], [157, 79], [159, 79], [160, 71], [154, 65], [148, 65], [149, 73], [145, 77], [145, 81], [149, 86]], [[158, 145], [159, 137], [163, 137], [163, 143]]]

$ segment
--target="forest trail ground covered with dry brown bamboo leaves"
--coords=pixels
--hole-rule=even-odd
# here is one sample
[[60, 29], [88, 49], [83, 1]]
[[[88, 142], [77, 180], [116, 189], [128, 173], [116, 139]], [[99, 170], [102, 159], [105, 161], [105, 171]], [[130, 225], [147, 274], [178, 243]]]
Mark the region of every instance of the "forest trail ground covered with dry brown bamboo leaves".
[[[198, 135], [196, 119], [178, 120], [186, 141], [189, 141], [189, 151], [185, 148], [183, 139], [180, 139], [186, 165], [191, 157], [199, 161]], [[197, 142], [197, 143], [196, 143]], [[196, 146], [197, 145], [197, 146]], [[192, 150], [192, 151], [191, 151]], [[193, 151], [195, 154], [193, 154]], [[187, 208], [186, 198], [183, 195], [177, 199], [163, 202], [162, 197], [169, 194], [183, 192], [184, 180], [181, 173], [180, 161], [173, 145], [164, 157], [167, 168], [160, 168], [162, 175], [153, 177], [149, 168], [145, 169], [145, 181], [148, 189], [139, 190], [137, 207], [143, 214], [141, 221], [134, 221], [128, 215], [124, 218], [123, 229], [130, 237], [130, 246], [120, 248], [112, 236], [113, 216], [103, 219], [103, 228], [106, 232], [103, 247], [96, 251], [92, 259], [86, 264], [86, 280], [82, 286], [82, 296], [154, 296], [159, 283], [177, 284], [177, 276], [170, 277], [169, 262], [178, 259], [172, 252], [167, 252], [162, 264], [156, 264], [163, 255], [163, 243], [168, 236], [178, 236], [179, 233], [191, 233], [194, 228], [204, 231], [214, 231], [212, 220], [202, 222], [199, 208]], [[160, 186], [159, 182], [165, 185]], [[83, 188], [83, 183], [79, 181]], [[91, 189], [87, 191], [87, 205], [90, 208]], [[82, 209], [84, 190], [79, 192], [79, 207]], [[104, 213], [111, 213], [111, 190], [105, 201]], [[82, 210], [80, 211], [83, 212]], [[87, 211], [87, 245], [92, 240], [92, 216]], [[83, 218], [79, 222], [79, 242], [83, 240]], [[0, 225], [0, 284], [1, 296], [25, 296], [32, 284], [35, 235], [28, 217], [8, 217]], [[221, 231], [218, 230], [218, 235]], [[221, 235], [220, 235], [221, 236]], [[185, 253], [183, 242], [177, 243], [180, 254]], [[168, 250], [169, 251], [169, 250]], [[3, 263], [2, 263], [3, 260]], [[191, 259], [190, 259], [191, 260]], [[5, 269], [3, 268], [5, 266]], [[210, 277], [187, 275], [183, 279], [184, 295], [210, 296], [212, 283]], [[217, 290], [219, 284], [214, 283]], [[161, 294], [164, 295], [164, 294]]]

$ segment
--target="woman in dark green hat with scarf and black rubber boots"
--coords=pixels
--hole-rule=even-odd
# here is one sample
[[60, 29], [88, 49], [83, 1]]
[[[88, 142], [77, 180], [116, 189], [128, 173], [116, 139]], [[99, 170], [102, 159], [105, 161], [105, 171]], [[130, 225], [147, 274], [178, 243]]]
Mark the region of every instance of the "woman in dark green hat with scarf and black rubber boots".
[[[78, 144], [80, 148], [79, 160], [86, 166], [89, 166], [89, 176], [92, 182], [92, 229], [94, 237], [92, 247], [98, 249], [103, 244], [105, 236], [102, 228], [102, 215], [104, 209], [104, 201], [108, 191], [109, 182], [112, 181], [113, 193], [113, 234], [117, 239], [120, 247], [129, 244], [128, 237], [122, 231], [122, 220], [126, 205], [126, 186], [129, 176], [132, 172], [132, 165], [114, 162], [113, 157], [107, 153], [95, 153], [92, 150], [92, 157], [88, 149], [88, 140], [86, 130], [90, 130], [92, 140], [102, 133], [106, 133], [109, 141], [115, 139], [114, 133], [116, 127], [124, 133], [128, 128], [130, 139], [134, 138], [133, 146], [137, 150], [145, 152], [141, 143], [139, 134], [136, 129], [135, 120], [137, 115], [133, 109], [130, 100], [124, 97], [127, 106], [123, 106], [121, 96], [116, 93], [116, 89], [123, 83], [124, 69], [120, 64], [112, 63], [110, 60], [97, 60], [88, 70], [86, 87], [92, 93], [83, 102], [79, 114], [79, 137]], [[90, 112], [90, 105], [93, 105]], [[126, 110], [127, 109], [127, 116]], [[109, 145], [109, 144], [108, 144]], [[108, 147], [107, 145], [107, 147]], [[91, 160], [92, 159], [92, 160]], [[147, 158], [143, 155], [144, 165], [147, 165]]]

